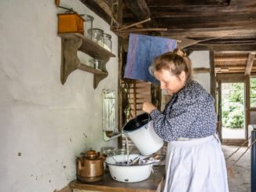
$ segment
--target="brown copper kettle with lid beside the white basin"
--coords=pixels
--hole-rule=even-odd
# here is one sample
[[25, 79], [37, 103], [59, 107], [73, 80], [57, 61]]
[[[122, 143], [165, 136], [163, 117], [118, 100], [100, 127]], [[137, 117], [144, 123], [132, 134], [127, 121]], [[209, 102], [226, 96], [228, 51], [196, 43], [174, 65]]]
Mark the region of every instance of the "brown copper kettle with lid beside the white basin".
[[100, 152], [87, 150], [84, 156], [77, 158], [77, 179], [82, 182], [95, 182], [103, 179], [104, 158]]

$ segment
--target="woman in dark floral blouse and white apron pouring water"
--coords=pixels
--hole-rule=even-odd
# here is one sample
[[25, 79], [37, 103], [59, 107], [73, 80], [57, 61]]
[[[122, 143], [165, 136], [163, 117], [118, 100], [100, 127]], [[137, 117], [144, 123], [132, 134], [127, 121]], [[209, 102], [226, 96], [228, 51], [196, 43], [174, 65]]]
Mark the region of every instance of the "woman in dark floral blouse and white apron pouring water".
[[229, 191], [225, 158], [216, 135], [214, 98], [191, 79], [192, 63], [175, 49], [150, 67], [171, 100], [161, 113], [143, 103], [155, 132], [168, 142], [165, 192]]

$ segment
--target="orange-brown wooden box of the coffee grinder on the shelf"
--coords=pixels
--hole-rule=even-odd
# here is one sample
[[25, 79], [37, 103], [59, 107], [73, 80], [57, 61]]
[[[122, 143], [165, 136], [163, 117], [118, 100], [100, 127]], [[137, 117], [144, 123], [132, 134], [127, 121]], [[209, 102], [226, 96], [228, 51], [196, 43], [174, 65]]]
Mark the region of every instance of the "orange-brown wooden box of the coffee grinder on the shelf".
[[83, 22], [85, 20], [78, 13], [58, 14], [58, 33], [84, 34]]

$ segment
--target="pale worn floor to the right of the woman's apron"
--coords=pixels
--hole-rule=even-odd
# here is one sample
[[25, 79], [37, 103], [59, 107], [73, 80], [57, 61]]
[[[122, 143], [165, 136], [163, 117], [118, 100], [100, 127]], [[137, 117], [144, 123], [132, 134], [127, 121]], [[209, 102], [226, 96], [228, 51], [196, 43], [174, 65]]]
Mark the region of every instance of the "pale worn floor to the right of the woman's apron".
[[[225, 158], [235, 152], [239, 147], [222, 145], [222, 150]], [[233, 154], [232, 157], [226, 160], [226, 165], [232, 165], [240, 155], [247, 150], [247, 147], [242, 147]], [[229, 172], [230, 173], [230, 172]], [[247, 150], [246, 154], [232, 166], [232, 174], [228, 174], [229, 192], [248, 192], [251, 191], [251, 148]]]

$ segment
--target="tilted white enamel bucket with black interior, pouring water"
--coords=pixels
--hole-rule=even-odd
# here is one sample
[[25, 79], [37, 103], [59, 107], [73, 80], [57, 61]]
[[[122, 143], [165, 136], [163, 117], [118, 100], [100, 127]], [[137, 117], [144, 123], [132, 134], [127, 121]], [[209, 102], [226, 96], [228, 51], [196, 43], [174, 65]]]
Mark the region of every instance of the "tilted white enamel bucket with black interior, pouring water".
[[129, 136], [143, 155], [154, 154], [163, 147], [163, 139], [155, 133], [153, 121], [147, 113], [128, 121], [123, 126], [123, 132]]

